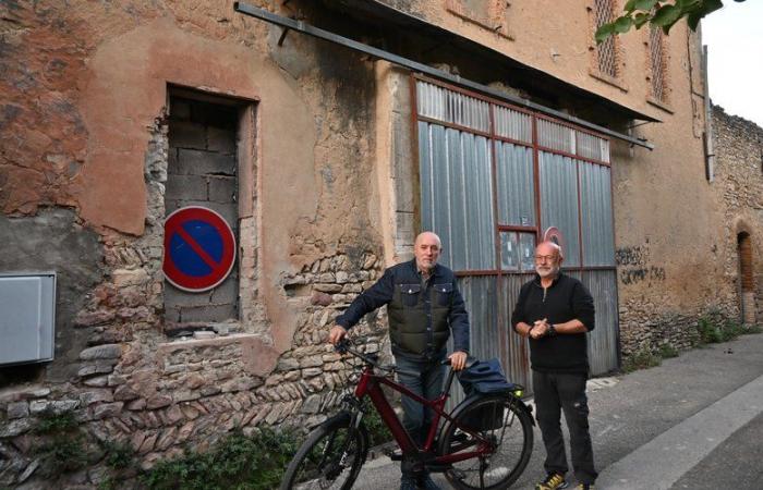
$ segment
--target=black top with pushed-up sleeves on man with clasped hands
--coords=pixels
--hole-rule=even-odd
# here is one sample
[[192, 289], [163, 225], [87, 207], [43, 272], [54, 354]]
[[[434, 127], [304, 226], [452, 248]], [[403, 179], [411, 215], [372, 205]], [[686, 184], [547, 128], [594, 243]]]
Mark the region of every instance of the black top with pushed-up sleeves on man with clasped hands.
[[[532, 326], [536, 320], [549, 323], [580, 320], [589, 330], [595, 327], [593, 297], [583, 283], [559, 273], [547, 290], [541, 278], [524, 283], [511, 315], [511, 327], [520, 321]], [[530, 339], [530, 362], [533, 370], [542, 372], [589, 372], [585, 333], [557, 334]]]

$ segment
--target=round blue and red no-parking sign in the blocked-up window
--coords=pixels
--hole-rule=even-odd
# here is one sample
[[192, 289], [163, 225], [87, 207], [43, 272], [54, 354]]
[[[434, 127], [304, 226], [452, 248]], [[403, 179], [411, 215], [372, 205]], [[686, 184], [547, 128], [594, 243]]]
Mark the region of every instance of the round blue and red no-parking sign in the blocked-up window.
[[235, 237], [220, 215], [189, 206], [167, 217], [162, 270], [172, 285], [192, 293], [211, 290], [233, 264]]

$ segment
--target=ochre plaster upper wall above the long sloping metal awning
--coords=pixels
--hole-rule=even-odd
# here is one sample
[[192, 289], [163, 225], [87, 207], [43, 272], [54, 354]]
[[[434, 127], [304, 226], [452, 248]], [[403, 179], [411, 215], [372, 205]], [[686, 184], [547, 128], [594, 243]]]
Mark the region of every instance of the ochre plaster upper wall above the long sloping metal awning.
[[[595, 48], [592, 0], [382, 2], [458, 33], [574, 86], [657, 119], [664, 119], [664, 114], [646, 100], [650, 83], [645, 77], [644, 42], [649, 40], [649, 29], [633, 32], [618, 39], [622, 56], [618, 68], [621, 76], [617, 83], [608, 83], [591, 75], [592, 52]], [[686, 24], [677, 24], [670, 33], [669, 41], [670, 50], [675, 53], [680, 52], [683, 58], [687, 52], [687, 30]], [[678, 64], [675, 73], [686, 69], [685, 63]], [[683, 76], [682, 73], [679, 76]], [[502, 82], [511, 85], [512, 81]]]

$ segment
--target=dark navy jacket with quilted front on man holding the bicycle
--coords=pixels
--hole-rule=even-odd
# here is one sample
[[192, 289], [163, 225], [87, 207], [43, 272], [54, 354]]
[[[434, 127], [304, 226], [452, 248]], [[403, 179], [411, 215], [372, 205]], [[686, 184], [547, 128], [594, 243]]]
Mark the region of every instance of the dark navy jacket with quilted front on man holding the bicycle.
[[336, 322], [350, 329], [364, 315], [384, 305], [395, 355], [414, 359], [440, 357], [451, 330], [453, 350], [469, 353], [469, 315], [456, 275], [447, 267], [436, 265], [429, 280], [423, 282], [415, 259], [392, 266]]

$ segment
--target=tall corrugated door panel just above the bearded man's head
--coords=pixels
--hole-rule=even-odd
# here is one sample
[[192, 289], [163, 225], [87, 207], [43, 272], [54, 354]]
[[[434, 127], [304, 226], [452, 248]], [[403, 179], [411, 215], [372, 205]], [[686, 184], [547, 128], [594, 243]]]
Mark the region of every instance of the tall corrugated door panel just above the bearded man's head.
[[541, 225], [556, 226], [565, 237], [565, 265], [580, 265], [578, 175], [569, 157], [538, 151]]

